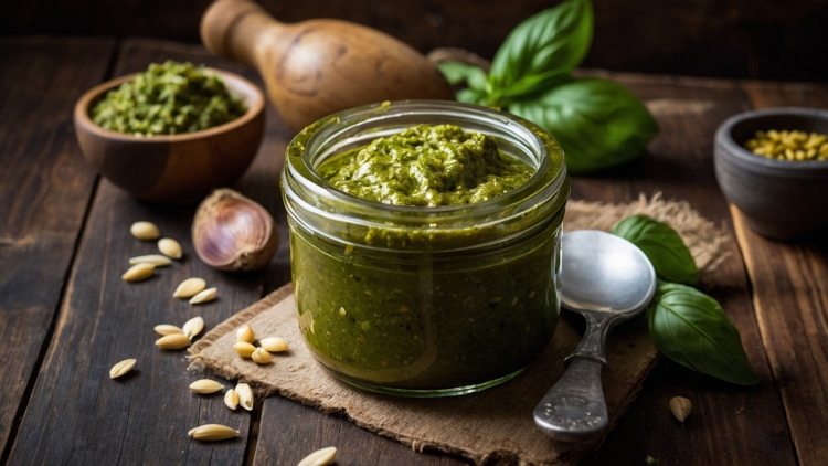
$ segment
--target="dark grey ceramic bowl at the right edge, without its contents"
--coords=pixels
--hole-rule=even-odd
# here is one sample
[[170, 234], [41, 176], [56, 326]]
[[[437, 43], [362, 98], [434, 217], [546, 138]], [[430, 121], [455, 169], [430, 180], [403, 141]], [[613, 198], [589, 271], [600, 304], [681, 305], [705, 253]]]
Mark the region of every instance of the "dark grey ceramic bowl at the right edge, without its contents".
[[768, 159], [742, 147], [757, 130], [768, 129], [828, 135], [828, 112], [768, 108], [724, 121], [715, 134], [714, 152], [724, 197], [763, 236], [796, 241], [828, 231], [828, 160]]

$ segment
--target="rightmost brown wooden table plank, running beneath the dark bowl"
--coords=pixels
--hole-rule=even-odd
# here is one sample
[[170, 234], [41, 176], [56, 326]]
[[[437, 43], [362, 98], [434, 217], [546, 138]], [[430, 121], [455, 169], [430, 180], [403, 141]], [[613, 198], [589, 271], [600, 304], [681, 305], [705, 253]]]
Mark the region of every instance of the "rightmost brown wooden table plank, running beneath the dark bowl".
[[[828, 86], [743, 83], [756, 108], [826, 108]], [[762, 338], [800, 465], [828, 458], [828, 242], [786, 244], [766, 240], [731, 206], [753, 284]]]

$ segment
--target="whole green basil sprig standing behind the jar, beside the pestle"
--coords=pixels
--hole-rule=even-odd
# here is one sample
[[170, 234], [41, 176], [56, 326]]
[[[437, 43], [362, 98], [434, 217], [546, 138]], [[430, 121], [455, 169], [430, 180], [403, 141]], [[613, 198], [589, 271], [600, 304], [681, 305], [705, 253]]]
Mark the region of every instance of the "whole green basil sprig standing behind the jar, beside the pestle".
[[590, 0], [567, 0], [520, 23], [497, 51], [488, 76], [474, 65], [444, 63], [457, 99], [506, 109], [549, 131], [574, 172], [630, 160], [658, 133], [641, 102], [618, 83], [573, 78], [592, 44]]

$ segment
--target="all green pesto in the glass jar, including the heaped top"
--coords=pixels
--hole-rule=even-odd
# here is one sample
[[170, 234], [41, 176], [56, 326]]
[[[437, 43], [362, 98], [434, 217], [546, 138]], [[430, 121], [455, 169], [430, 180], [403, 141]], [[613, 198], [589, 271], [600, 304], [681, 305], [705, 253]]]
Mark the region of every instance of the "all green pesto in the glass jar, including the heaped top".
[[[355, 197], [421, 206], [481, 202], [517, 189], [534, 171], [501, 153], [495, 138], [450, 125], [415, 126], [317, 168]], [[352, 225], [344, 243], [291, 222], [293, 279], [308, 347], [362, 386], [437, 390], [523, 369], [549, 343], [559, 318], [563, 209], [551, 212], [509, 227]]]

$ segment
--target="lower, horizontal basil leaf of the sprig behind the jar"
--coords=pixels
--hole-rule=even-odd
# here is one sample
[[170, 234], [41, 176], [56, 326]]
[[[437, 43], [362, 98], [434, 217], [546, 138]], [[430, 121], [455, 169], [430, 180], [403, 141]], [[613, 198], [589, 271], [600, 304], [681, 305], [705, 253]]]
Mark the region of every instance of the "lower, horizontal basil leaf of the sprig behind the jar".
[[558, 139], [573, 173], [630, 160], [641, 155], [658, 133], [656, 120], [638, 97], [608, 80], [571, 80], [513, 102], [508, 110]]

